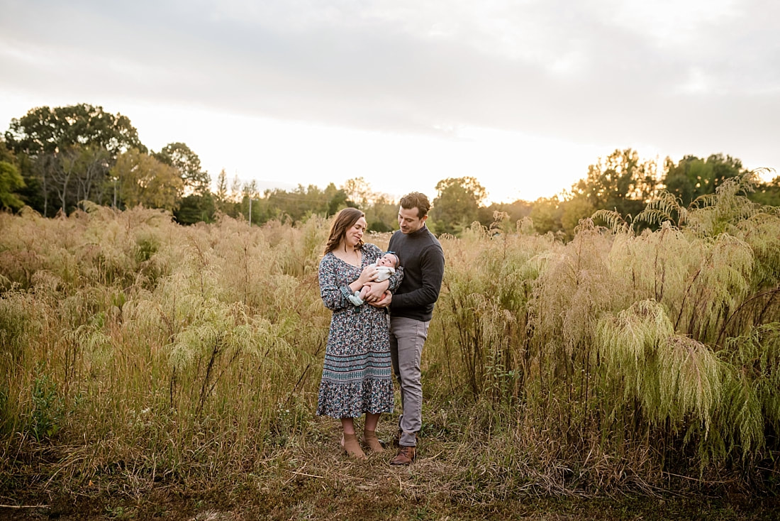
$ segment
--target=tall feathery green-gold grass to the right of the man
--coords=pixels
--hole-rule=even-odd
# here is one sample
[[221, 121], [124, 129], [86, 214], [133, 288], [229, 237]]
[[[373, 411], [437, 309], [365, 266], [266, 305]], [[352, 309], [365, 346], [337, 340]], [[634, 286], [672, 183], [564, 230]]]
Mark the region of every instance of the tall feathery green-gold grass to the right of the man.
[[498, 418], [509, 464], [562, 463], [590, 484], [776, 476], [780, 216], [741, 182], [665, 208], [684, 226], [636, 234], [612, 216], [568, 244], [495, 230], [445, 241], [429, 367]]

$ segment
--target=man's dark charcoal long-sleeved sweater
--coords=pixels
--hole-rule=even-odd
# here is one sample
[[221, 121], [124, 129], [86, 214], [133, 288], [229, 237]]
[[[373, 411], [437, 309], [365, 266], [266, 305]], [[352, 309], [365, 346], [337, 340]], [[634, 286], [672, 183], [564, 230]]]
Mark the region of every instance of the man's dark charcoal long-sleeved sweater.
[[403, 280], [392, 295], [390, 313], [427, 322], [444, 277], [444, 252], [426, 226], [411, 234], [401, 230], [390, 237], [388, 249], [396, 252], [403, 266]]

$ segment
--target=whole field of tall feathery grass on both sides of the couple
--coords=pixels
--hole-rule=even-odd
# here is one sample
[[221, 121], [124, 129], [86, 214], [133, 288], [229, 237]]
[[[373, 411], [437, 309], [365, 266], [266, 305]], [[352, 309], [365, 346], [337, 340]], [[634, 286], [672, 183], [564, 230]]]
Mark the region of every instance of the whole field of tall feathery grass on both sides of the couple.
[[[507, 497], [673, 474], [771, 485], [780, 216], [740, 183], [686, 209], [649, 205], [639, 218], [657, 230], [601, 215], [610, 227], [583, 220], [563, 243], [497, 215], [441, 237], [422, 436], [467, 462], [453, 480]], [[0, 214], [4, 479], [54, 459], [72, 487], [236, 483], [317, 443], [327, 233], [316, 216]]]

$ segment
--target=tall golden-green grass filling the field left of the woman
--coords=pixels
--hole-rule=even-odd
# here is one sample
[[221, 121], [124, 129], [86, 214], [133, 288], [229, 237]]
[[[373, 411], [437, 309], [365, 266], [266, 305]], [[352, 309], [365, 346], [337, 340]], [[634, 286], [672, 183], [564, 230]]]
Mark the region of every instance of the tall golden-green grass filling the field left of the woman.
[[74, 479], [128, 466], [214, 477], [251, 469], [308, 420], [329, 319], [320, 220], [0, 219], [5, 457], [51, 438]]

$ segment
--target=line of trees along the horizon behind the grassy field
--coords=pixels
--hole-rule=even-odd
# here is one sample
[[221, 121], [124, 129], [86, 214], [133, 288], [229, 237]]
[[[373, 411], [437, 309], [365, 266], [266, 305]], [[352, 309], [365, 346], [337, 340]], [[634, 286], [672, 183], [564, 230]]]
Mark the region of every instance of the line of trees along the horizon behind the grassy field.
[[[500, 220], [509, 226], [525, 223], [537, 233], [552, 232], [566, 239], [573, 237], [580, 219], [598, 215], [599, 210], [630, 223], [661, 194], [687, 208], [732, 177], [750, 181], [746, 187], [753, 188], [748, 194], [753, 202], [780, 206], [780, 177], [764, 181], [739, 159], [723, 154], [661, 162], [642, 159], [631, 148], [618, 149], [597, 159], [569, 190], [534, 202], [485, 205], [487, 192], [477, 176], [438, 182], [429, 220], [435, 233], [458, 235], [474, 222], [489, 227]], [[229, 180], [222, 170], [212, 191], [210, 174], [185, 143], [172, 142], [152, 151], [140, 142], [127, 116], [100, 106], [44, 106], [11, 120], [0, 138], [0, 208], [16, 212], [27, 206], [52, 217], [67, 215], [85, 202], [116, 209], [136, 205], [165, 209], [182, 224], [212, 222], [221, 213], [257, 224], [274, 219], [296, 223], [353, 206], [366, 212], [374, 231], [392, 230], [397, 212], [396, 202], [374, 192], [362, 177], [340, 187], [299, 185], [260, 193], [254, 181]]]

